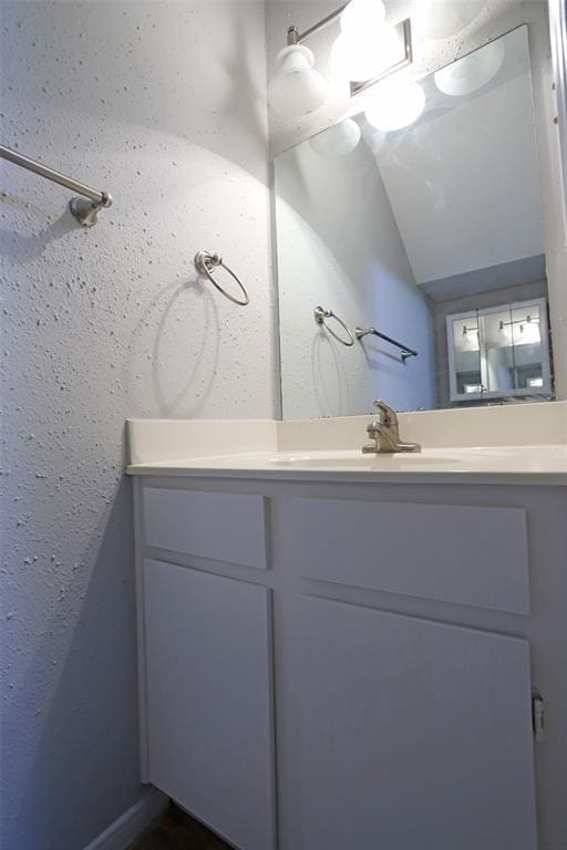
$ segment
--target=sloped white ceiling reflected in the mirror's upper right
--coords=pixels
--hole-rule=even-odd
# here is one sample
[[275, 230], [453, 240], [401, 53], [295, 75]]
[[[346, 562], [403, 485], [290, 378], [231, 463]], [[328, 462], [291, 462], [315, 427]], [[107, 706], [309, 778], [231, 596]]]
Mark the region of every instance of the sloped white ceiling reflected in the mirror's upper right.
[[[472, 54], [488, 54], [497, 69], [487, 83], [447, 95], [434, 74], [422, 83], [426, 108], [411, 129], [365, 133], [415, 281], [434, 300], [455, 288], [526, 282], [544, 269], [527, 31], [495, 44]], [[466, 61], [483, 79], [484, 62]]]

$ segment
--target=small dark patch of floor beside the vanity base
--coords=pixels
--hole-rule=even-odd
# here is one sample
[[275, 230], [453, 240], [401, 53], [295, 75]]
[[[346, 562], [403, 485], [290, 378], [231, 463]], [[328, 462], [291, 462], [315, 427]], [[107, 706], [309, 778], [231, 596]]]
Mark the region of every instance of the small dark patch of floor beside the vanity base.
[[176, 806], [171, 806], [128, 850], [231, 850], [231, 848]]

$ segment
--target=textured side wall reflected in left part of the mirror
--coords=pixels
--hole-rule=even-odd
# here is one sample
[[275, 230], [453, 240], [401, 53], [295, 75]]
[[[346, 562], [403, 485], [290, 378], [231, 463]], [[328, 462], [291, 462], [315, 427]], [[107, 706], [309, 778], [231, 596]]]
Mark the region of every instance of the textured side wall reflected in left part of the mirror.
[[[435, 407], [433, 314], [371, 148], [361, 141], [333, 158], [303, 143], [276, 158], [275, 176], [284, 416], [362, 414], [378, 397], [400, 411]], [[316, 324], [318, 304], [352, 334], [375, 326], [419, 356], [404, 364], [374, 336], [342, 345]]]

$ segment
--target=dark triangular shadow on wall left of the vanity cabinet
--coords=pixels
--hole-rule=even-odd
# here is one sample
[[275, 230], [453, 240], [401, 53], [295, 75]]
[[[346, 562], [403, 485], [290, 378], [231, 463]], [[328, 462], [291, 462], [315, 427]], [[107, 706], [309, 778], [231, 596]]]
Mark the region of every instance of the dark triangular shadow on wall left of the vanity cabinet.
[[[128, 728], [123, 723], [124, 716], [137, 716], [132, 527], [132, 488], [123, 480], [86, 546], [85, 563], [61, 588], [61, 604], [42, 630], [20, 691], [11, 691], [12, 699], [4, 704], [4, 745], [12, 738], [25, 748], [20, 735], [27, 713], [35, 714], [37, 740], [28, 742], [34, 760], [21, 796], [2, 800], [2, 808], [9, 807], [2, 818], [2, 850], [78, 850], [109, 826], [109, 819], [96, 818], [107, 811], [109, 799], [114, 800], [115, 818], [132, 805], [138, 770], [124, 753], [137, 751], [137, 724]], [[66, 641], [68, 651], [45, 701], [47, 683], [54, 678], [53, 656], [63, 655], [53, 652], [58, 641]], [[42, 714], [35, 706], [45, 702], [50, 707]], [[85, 714], [91, 723], [86, 735]], [[130, 740], [124, 739], [125, 728]], [[75, 808], [78, 795], [90, 799], [89, 810]]]

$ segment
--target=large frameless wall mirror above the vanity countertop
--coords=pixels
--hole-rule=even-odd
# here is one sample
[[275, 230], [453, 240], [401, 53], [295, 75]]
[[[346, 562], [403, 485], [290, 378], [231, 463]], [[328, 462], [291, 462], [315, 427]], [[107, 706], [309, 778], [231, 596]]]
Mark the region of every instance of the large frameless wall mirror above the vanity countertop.
[[286, 418], [553, 397], [527, 27], [394, 92], [275, 158]]

